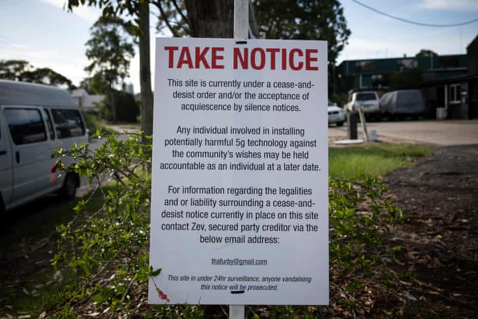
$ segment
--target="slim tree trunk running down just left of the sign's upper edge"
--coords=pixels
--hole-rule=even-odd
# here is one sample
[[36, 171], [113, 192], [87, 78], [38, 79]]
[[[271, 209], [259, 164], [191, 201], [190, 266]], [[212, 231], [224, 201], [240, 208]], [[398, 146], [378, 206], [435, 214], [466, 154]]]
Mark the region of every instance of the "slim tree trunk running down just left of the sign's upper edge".
[[[139, 10], [139, 83], [141, 86], [141, 130], [153, 135], [153, 92], [151, 91], [150, 7], [141, 2]], [[145, 139], [143, 141], [151, 141]]]

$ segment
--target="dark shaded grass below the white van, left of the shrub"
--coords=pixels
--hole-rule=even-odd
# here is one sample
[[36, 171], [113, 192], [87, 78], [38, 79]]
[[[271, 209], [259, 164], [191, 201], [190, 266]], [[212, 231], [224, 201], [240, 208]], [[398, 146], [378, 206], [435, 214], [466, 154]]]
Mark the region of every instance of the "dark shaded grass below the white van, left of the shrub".
[[[105, 190], [110, 187], [114, 186], [106, 186]], [[0, 289], [4, 291], [4, 297], [0, 297], [0, 313], [14, 317], [38, 314], [65, 298], [64, 287], [71, 284], [73, 274], [69, 269], [55, 272], [51, 261], [59, 238], [56, 227], [72, 220], [78, 200], [62, 202], [52, 194], [7, 213], [4, 227], [8, 231], [0, 237], [3, 255], [0, 257], [8, 265], [8, 269], [4, 267], [0, 272]], [[86, 210], [94, 212], [102, 205], [103, 197], [96, 192]], [[40, 244], [41, 248], [35, 250]]]

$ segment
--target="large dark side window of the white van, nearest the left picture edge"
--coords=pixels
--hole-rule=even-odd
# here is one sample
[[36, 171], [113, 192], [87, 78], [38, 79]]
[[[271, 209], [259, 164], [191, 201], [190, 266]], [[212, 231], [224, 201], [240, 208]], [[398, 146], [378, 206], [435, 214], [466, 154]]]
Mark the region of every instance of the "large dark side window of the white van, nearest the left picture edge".
[[16, 145], [46, 140], [42, 115], [36, 109], [5, 109], [8, 128]]

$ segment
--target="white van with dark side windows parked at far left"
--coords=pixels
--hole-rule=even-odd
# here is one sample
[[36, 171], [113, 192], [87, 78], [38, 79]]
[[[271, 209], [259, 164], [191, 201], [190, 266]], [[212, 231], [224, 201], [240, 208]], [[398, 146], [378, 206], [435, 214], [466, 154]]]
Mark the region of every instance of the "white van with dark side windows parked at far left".
[[0, 80], [0, 212], [50, 192], [74, 197], [77, 174], [51, 181], [52, 152], [87, 141], [83, 116], [68, 91]]

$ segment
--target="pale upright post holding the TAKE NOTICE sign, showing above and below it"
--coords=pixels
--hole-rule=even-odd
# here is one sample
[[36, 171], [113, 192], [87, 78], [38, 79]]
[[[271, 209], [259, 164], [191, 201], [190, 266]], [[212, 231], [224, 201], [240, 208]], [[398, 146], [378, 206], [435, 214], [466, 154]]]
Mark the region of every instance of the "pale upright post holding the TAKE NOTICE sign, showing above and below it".
[[[234, 39], [244, 41], [249, 38], [249, 0], [234, 0]], [[244, 319], [244, 305], [229, 305], [230, 319]]]

